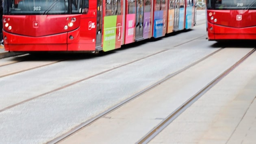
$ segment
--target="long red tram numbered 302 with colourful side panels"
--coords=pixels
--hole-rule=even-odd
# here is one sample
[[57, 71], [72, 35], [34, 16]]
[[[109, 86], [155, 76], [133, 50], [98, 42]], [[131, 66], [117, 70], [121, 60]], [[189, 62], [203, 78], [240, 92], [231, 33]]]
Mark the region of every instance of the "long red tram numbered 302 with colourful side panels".
[[6, 51], [110, 51], [195, 25], [195, 0], [4, 0]]

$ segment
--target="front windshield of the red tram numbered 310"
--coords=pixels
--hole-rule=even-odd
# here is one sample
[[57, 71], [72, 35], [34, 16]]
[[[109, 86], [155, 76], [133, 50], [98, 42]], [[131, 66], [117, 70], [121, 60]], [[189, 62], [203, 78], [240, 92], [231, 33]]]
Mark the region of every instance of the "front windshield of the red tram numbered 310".
[[207, 9], [255, 10], [256, 0], [206, 0]]

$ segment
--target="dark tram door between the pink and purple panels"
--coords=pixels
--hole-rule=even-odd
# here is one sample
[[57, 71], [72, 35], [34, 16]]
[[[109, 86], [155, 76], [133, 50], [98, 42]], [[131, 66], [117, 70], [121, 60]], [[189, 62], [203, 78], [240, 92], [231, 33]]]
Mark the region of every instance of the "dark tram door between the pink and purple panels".
[[136, 3], [136, 32], [135, 41], [143, 40], [143, 11], [144, 0], [137, 0]]

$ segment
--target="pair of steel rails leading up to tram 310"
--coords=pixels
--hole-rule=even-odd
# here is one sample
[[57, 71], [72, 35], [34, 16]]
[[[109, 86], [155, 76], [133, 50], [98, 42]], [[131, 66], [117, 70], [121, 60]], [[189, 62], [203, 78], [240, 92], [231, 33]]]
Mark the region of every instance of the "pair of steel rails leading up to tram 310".
[[[207, 59], [208, 57], [210, 57], [211, 55], [214, 55], [215, 53], [223, 50], [224, 48], [219, 49], [218, 51], [215, 51], [214, 53], [204, 57], [202, 59], [202, 61], [204, 59]], [[191, 106], [195, 101], [197, 101], [202, 95], [204, 95], [204, 93], [206, 93], [209, 89], [211, 89], [214, 85], [216, 85], [221, 79], [223, 79], [226, 75], [228, 75], [230, 72], [232, 72], [232, 70], [234, 70], [237, 66], [239, 66], [240, 64], [243, 63], [243, 61], [245, 61], [245, 59], [247, 59], [250, 55], [252, 55], [252, 53], [254, 53], [256, 51], [256, 49], [254, 48], [252, 51], [250, 51], [249, 53], [247, 53], [245, 56], [243, 56], [241, 59], [239, 59], [239, 61], [237, 61], [235, 64], [233, 64], [232, 66], [230, 66], [228, 69], [226, 69], [223, 73], [221, 73], [219, 76], [217, 76], [215, 79], [213, 79], [210, 83], [208, 83], [205, 87], [203, 87], [202, 89], [200, 89], [200, 91], [198, 91], [195, 95], [193, 95], [191, 98], [189, 98], [189, 100], [187, 100], [186, 102], [184, 102], [182, 105], [180, 105], [180, 107], [178, 107], [174, 112], [172, 112], [170, 115], [168, 115], [165, 119], [163, 119], [163, 121], [161, 123], [159, 123], [156, 127], [154, 127], [150, 132], [148, 132], [143, 138], [141, 138], [137, 143], [138, 144], [145, 144], [150, 142], [150, 140], [152, 140], [158, 133], [160, 133], [165, 127], [167, 127], [169, 125], [169, 123], [171, 123], [174, 119], [176, 119], [176, 117], [178, 117], [184, 110], [186, 110], [189, 106]], [[200, 61], [198, 61], [200, 62]], [[195, 63], [193, 63], [194, 65], [197, 64], [197, 61]], [[85, 123], [82, 123], [81, 125], [78, 125], [77, 127], [75, 127], [74, 129], [72, 129], [71, 131], [65, 133], [64, 135], [48, 142], [49, 144], [54, 144], [54, 143], [58, 143], [58, 142], [62, 142], [63, 140], [72, 137], [74, 133], [77, 133], [78, 131], [82, 130], [83, 128], [92, 125], [94, 122], [96, 122], [99, 119], [104, 119], [104, 118], [109, 118], [108, 114], [110, 114], [111, 112], [117, 110], [118, 108], [120, 108], [121, 106], [124, 106], [125, 104], [129, 103], [130, 101], [134, 100], [135, 98], [143, 95], [144, 93], [154, 89], [155, 87], [157, 87], [158, 85], [161, 85], [161, 83], [164, 83], [165, 81], [169, 80], [170, 78], [176, 76], [177, 74], [180, 74], [181, 72], [191, 68], [192, 66], [187, 66], [186, 68], [174, 73], [174, 74], [170, 74], [168, 75], [166, 78], [158, 81], [157, 83], [154, 83], [153, 85], [151, 85], [150, 87], [148, 87], [147, 89], [144, 89], [142, 91], [140, 91], [139, 93], [136, 93], [135, 95], [133, 95], [132, 97], [128, 98], [127, 100], [113, 106], [112, 108], [110, 108], [109, 110], [99, 114], [98, 116], [94, 117], [93, 119], [90, 119], [88, 121], [86, 121]], [[74, 139], [73, 139], [74, 140]], [[64, 142], [65, 143], [65, 142]]]

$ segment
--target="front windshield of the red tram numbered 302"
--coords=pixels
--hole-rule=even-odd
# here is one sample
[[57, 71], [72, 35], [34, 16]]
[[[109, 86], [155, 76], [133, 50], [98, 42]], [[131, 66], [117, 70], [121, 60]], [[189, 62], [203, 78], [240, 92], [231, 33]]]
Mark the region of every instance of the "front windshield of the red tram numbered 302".
[[[4, 0], [5, 15], [61, 15], [82, 13], [88, 0]], [[88, 3], [87, 3], [88, 7]]]

